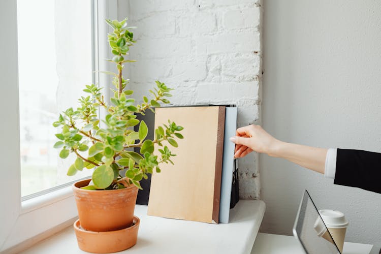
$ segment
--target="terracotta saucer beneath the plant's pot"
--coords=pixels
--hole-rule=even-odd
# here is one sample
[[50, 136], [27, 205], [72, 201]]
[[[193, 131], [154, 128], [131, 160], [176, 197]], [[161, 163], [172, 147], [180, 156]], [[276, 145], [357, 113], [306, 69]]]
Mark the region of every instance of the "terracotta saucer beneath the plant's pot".
[[131, 227], [107, 232], [92, 232], [81, 229], [80, 222], [74, 223], [74, 230], [80, 249], [87, 252], [110, 253], [131, 248], [138, 239], [140, 220], [134, 216]]

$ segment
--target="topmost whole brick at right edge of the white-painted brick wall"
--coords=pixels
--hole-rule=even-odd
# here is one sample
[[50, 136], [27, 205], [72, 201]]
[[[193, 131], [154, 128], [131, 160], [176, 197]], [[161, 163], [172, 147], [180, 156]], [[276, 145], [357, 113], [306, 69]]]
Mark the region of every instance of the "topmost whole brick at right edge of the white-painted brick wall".
[[224, 14], [225, 29], [257, 27], [260, 23], [260, 8], [250, 7], [228, 11]]

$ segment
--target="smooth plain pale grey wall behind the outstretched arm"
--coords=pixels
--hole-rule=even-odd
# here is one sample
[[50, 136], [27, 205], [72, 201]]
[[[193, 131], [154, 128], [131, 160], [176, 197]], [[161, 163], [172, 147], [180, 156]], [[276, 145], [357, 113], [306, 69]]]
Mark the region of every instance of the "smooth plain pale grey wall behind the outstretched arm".
[[[381, 152], [379, 1], [264, 5], [263, 125], [278, 139]], [[284, 160], [260, 156], [262, 232], [291, 234], [308, 189], [318, 208], [342, 211], [347, 241], [381, 241], [381, 195]], [[381, 179], [380, 179], [381, 184]]]

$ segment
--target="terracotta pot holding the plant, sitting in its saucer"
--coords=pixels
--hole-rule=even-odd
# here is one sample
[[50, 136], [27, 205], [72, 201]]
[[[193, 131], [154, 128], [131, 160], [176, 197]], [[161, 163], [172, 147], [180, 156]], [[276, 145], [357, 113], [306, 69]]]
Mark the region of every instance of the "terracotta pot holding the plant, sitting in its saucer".
[[124, 189], [88, 190], [90, 179], [74, 183], [81, 227], [88, 231], [104, 232], [128, 228], [133, 223], [138, 188], [134, 185]]

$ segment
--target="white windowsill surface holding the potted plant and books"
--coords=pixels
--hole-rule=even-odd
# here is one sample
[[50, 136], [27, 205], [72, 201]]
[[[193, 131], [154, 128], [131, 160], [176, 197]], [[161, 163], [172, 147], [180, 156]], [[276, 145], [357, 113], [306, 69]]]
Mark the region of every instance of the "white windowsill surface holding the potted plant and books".
[[[137, 244], [125, 253], [250, 253], [261, 225], [265, 203], [240, 200], [230, 211], [229, 224], [147, 216], [147, 207], [137, 205], [140, 218]], [[233, 244], [234, 243], [234, 244]], [[55, 234], [22, 253], [87, 253], [78, 248], [73, 227]]]

